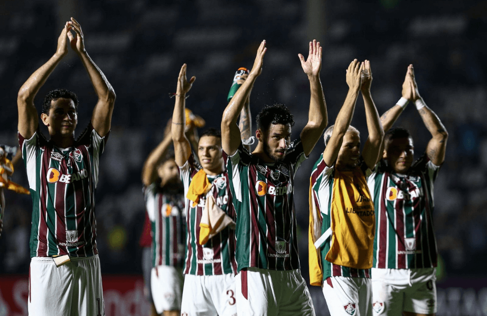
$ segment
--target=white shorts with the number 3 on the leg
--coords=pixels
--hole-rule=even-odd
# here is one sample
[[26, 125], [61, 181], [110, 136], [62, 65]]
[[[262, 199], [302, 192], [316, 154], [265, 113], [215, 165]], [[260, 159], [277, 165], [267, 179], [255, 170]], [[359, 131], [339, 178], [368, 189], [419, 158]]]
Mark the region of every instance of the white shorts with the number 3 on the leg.
[[186, 274], [181, 315], [236, 316], [233, 274], [198, 276]]

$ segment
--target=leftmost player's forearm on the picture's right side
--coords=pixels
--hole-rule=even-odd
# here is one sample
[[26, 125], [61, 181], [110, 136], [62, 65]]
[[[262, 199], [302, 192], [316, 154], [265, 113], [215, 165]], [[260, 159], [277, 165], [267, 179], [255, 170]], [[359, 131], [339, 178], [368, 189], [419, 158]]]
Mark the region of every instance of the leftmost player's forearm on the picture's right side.
[[104, 101], [107, 104], [113, 104], [115, 100], [115, 90], [113, 90], [112, 85], [108, 82], [103, 71], [96, 66], [86, 51], [79, 53], [78, 56], [90, 76], [98, 100]]

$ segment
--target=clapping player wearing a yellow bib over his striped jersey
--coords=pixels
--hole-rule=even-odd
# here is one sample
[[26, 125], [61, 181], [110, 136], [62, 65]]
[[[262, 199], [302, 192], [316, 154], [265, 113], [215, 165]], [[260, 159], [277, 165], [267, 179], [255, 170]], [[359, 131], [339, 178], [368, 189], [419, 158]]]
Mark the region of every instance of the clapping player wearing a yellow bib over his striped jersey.
[[[377, 162], [384, 130], [370, 93], [370, 62], [355, 59], [346, 78], [347, 97], [323, 135], [325, 150], [310, 178], [310, 283], [322, 287], [331, 315], [371, 316], [375, 219], [365, 173]], [[360, 133], [350, 125], [359, 92], [369, 132], [362, 153]]]

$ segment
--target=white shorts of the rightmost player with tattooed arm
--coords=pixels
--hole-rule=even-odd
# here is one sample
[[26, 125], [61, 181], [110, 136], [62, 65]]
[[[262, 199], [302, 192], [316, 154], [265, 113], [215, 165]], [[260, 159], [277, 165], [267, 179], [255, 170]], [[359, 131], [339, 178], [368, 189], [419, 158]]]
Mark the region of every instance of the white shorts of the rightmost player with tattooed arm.
[[436, 268], [372, 268], [374, 315], [436, 313]]

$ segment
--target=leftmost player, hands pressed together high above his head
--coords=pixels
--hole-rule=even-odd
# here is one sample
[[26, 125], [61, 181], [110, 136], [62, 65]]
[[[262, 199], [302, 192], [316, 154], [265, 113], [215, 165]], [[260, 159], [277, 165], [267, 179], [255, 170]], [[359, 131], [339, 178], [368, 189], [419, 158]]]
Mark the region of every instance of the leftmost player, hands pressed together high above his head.
[[[75, 93], [49, 92], [40, 115], [49, 130], [46, 140], [34, 98], [69, 44], [87, 70], [98, 102], [88, 127], [75, 140]], [[105, 315], [94, 191], [114, 102], [112, 86], [86, 52], [81, 26], [71, 18], [57, 39], [56, 53], [27, 79], [17, 97], [19, 144], [33, 202], [29, 315]]]

